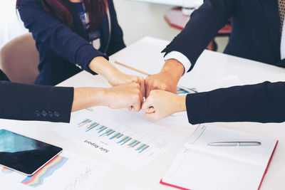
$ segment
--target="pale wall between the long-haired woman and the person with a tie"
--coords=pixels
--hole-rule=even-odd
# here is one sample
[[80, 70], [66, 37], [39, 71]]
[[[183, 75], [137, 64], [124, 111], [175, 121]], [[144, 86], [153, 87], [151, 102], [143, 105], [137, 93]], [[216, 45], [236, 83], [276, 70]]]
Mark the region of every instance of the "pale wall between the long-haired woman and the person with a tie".
[[165, 13], [173, 6], [130, 0], [113, 1], [127, 46], [144, 36], [171, 41], [180, 32], [171, 28], [164, 19]]

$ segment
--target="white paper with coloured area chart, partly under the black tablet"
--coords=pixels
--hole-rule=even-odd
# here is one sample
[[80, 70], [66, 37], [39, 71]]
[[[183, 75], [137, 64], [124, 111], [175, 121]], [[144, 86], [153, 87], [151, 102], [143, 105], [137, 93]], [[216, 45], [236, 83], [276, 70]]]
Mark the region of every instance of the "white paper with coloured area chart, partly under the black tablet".
[[1, 188], [12, 190], [95, 189], [110, 164], [63, 152], [43, 168], [26, 176], [0, 167]]

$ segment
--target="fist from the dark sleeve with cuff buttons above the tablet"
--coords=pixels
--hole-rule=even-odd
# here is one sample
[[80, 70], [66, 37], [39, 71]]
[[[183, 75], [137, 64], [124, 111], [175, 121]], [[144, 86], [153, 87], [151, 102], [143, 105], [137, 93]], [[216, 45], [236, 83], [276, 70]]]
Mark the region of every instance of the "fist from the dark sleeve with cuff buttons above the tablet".
[[143, 96], [138, 83], [119, 85], [105, 89], [105, 104], [112, 109], [122, 109], [128, 107], [130, 111], [140, 111]]

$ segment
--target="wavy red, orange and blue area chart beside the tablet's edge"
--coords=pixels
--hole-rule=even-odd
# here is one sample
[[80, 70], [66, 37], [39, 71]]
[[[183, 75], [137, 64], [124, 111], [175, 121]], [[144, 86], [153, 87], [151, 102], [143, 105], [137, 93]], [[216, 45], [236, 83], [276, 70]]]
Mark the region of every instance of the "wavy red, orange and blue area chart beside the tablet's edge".
[[67, 160], [68, 158], [66, 157], [57, 156], [48, 162], [46, 166], [38, 170], [36, 174], [33, 174], [33, 176], [27, 176], [26, 179], [21, 181], [21, 183], [33, 187], [40, 186], [43, 184], [44, 179], [51, 176], [57, 169], [61, 168]]

